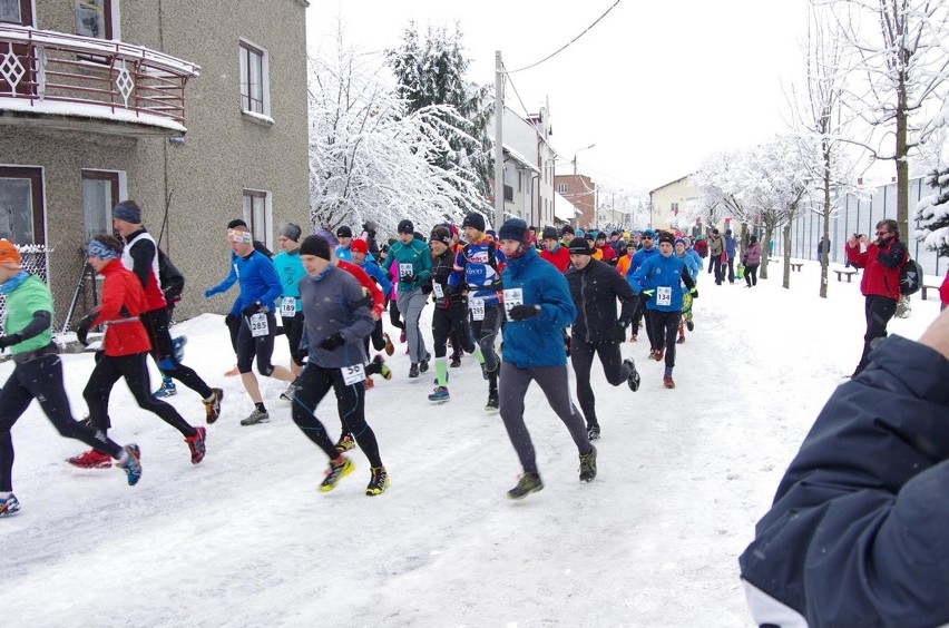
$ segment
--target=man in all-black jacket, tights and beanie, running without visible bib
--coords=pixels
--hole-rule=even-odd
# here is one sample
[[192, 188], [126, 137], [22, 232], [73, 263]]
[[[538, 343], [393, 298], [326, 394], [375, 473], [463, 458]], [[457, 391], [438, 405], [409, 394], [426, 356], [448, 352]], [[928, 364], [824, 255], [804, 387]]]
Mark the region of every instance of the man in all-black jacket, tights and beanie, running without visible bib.
[[[599, 438], [596, 398], [590, 386], [594, 353], [599, 355], [606, 381], [614, 386], [626, 382], [629, 390], [639, 389], [639, 373], [632, 359], [623, 360], [619, 346], [626, 340], [626, 327], [636, 312], [637, 296], [629, 283], [609, 264], [591, 257], [593, 249], [583, 238], [570, 243], [567, 283], [577, 308], [570, 343], [570, 363], [577, 376], [577, 401], [587, 421], [587, 436]], [[623, 303], [616, 318], [616, 300]]]

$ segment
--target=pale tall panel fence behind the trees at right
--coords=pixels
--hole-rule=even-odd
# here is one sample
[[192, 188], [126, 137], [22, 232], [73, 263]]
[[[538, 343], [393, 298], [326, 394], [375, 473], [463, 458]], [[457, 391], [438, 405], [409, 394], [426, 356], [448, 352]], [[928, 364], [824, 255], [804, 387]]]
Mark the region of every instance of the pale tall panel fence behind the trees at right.
[[[929, 177], [919, 177], [910, 180], [909, 207], [912, 217], [919, 199], [929, 196], [932, 188], [929, 187]], [[815, 204], [804, 204], [799, 212], [798, 218], [791, 223], [791, 257], [800, 259], [819, 259], [818, 244], [823, 235], [823, 220], [821, 214], [814, 212]], [[851, 234], [867, 234], [873, 239], [873, 233], [878, 222], [884, 218], [897, 217], [897, 184], [891, 183], [878, 187], [870, 198], [858, 198], [848, 195], [839, 204], [839, 208], [831, 215], [830, 223], [830, 262], [843, 264], [845, 254], [843, 246]], [[920, 225], [910, 218], [909, 228], [916, 230]], [[927, 275], [945, 275], [949, 268], [949, 258], [939, 257], [935, 251], [930, 251], [924, 244], [917, 241], [913, 235], [900, 234], [910, 256], [922, 265]], [[784, 251], [784, 238], [781, 232], [774, 233], [774, 254], [780, 255]]]

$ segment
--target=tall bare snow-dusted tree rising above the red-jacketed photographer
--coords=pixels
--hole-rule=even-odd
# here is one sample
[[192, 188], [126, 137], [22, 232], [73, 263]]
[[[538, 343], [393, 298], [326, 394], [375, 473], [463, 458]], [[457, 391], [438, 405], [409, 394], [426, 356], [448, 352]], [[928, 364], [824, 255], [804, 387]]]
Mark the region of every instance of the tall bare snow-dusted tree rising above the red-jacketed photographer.
[[[924, 139], [920, 115], [943, 102], [949, 78], [949, 3], [939, 0], [835, 0], [838, 22], [860, 56], [853, 71], [864, 76], [849, 107], [875, 134], [858, 143], [874, 159], [897, 167], [897, 223], [909, 233], [909, 158]], [[874, 24], [868, 28], [869, 24]], [[863, 37], [872, 31], [873, 37]], [[884, 147], [892, 143], [892, 147]]]

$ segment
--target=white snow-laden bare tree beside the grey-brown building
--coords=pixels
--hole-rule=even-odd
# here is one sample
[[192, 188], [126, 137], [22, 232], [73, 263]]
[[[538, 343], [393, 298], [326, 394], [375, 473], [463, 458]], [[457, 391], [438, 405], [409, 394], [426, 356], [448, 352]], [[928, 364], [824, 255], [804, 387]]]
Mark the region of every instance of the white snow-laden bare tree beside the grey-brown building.
[[[432, 167], [454, 138], [451, 108], [409, 111], [387, 84], [383, 60], [343, 45], [311, 59], [310, 219], [331, 230], [373, 219], [394, 234], [410, 217], [420, 229], [457, 220], [478, 197], [462, 168]], [[448, 120], [448, 122], [446, 121]]]

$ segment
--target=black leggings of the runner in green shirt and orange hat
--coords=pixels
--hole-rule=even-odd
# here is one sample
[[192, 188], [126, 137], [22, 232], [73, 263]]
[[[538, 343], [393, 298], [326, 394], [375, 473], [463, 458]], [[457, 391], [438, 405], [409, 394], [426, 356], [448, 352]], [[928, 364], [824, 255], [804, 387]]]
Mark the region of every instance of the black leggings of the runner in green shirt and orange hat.
[[80, 440], [116, 460], [121, 458], [121, 447], [106, 438], [104, 432], [72, 418], [69, 399], [62, 387], [62, 363], [58, 355], [42, 355], [17, 364], [10, 379], [0, 389], [0, 491], [13, 490], [13, 439], [10, 429], [33, 399], [39, 400], [40, 408], [60, 435]]

